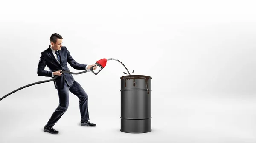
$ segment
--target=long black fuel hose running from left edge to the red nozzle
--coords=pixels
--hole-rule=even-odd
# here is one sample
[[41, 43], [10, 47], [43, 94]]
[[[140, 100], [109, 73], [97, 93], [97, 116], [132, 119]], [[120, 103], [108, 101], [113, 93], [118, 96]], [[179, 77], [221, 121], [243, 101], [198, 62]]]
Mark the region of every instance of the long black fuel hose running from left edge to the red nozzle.
[[[94, 67], [94, 66], [93, 66]], [[89, 70], [84, 70], [82, 72], [79, 72], [79, 73], [73, 73], [73, 72], [69, 72], [69, 71], [61, 71], [61, 73], [71, 73], [71, 74], [82, 74], [82, 73], [86, 73], [86, 72], [89, 72], [91, 70], [93, 70], [93, 67], [91, 67]], [[12, 93], [15, 93], [16, 91], [19, 91], [23, 88], [26, 88], [26, 87], [30, 87], [32, 85], [35, 85], [35, 84], [41, 84], [41, 83], [44, 83], [44, 82], [50, 82], [50, 81], [53, 81], [54, 79], [56, 79], [58, 76], [54, 76], [52, 79], [49, 79], [49, 80], [45, 80], [45, 81], [38, 81], [38, 82], [35, 82], [35, 83], [32, 83], [32, 84], [28, 84], [28, 85], [25, 85], [23, 87], [20, 87], [18, 88], [17, 90], [13, 90], [12, 92], [6, 94], [5, 96], [3, 96], [2, 98], [0, 98], [0, 101], [3, 100], [3, 98], [6, 98], [7, 96], [11, 95]]]

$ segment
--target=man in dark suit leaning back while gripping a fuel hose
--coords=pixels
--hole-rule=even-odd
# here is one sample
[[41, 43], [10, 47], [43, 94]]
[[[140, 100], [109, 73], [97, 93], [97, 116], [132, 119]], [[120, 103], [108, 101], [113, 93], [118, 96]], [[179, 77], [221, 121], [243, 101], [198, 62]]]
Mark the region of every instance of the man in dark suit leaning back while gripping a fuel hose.
[[[54, 80], [54, 86], [58, 91], [59, 105], [52, 113], [52, 116], [49, 118], [47, 124], [44, 126], [44, 132], [49, 132], [52, 134], [58, 134], [58, 131], [53, 129], [53, 126], [67, 111], [69, 106], [69, 91], [79, 98], [81, 126], [96, 126], [96, 124], [90, 123], [89, 121], [87, 104], [88, 95], [81, 85], [75, 81], [72, 74], [61, 73], [61, 71], [70, 71], [67, 67], [67, 63], [77, 70], [87, 70], [93, 67], [95, 64], [87, 65], [76, 62], [70, 55], [67, 48], [62, 46], [62, 39], [62, 36], [57, 33], [51, 35], [49, 48], [41, 52], [41, 57], [37, 68], [38, 76], [58, 76]], [[45, 66], [49, 67], [50, 71], [44, 70]], [[93, 67], [93, 70], [96, 68], [97, 66]]]

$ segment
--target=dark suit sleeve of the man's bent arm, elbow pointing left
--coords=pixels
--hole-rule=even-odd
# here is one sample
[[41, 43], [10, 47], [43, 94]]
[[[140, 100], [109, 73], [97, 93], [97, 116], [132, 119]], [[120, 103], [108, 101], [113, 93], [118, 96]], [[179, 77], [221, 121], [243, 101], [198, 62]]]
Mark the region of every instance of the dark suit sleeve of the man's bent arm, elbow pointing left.
[[52, 77], [53, 72], [44, 70], [45, 66], [46, 66], [46, 60], [45, 60], [44, 54], [41, 53], [41, 57], [40, 57], [38, 68], [37, 68], [37, 74], [38, 76]]

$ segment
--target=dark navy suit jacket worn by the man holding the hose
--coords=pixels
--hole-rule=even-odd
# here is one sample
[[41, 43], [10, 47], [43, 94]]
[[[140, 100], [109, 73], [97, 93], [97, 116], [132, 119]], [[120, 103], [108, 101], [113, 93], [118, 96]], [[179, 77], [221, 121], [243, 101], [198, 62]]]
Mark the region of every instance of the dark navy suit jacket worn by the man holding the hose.
[[[55, 72], [57, 70], [62, 71], [70, 71], [67, 67], [67, 63], [70, 64], [71, 67], [77, 70], [86, 70], [87, 64], [79, 64], [77, 63], [72, 56], [70, 55], [70, 52], [67, 50], [66, 47], [61, 47], [61, 50], [59, 50], [60, 53], [60, 60], [61, 64], [58, 63], [57, 59], [55, 59], [52, 50], [47, 48], [43, 52], [41, 52], [41, 57], [38, 63], [37, 68], [37, 74], [38, 76], [49, 76], [52, 77], [52, 72]], [[45, 66], [49, 67], [50, 71], [44, 70]], [[67, 81], [68, 85], [73, 84], [75, 81], [72, 74], [70, 73], [62, 73], [61, 76], [58, 76], [54, 80], [54, 85], [56, 89], [62, 89], [65, 84], [65, 80]]]

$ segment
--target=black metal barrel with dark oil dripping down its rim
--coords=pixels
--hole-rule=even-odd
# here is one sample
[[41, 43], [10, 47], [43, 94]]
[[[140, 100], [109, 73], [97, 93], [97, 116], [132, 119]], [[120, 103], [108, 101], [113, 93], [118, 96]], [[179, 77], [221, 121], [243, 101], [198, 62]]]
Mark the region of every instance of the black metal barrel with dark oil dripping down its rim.
[[151, 131], [151, 77], [129, 75], [121, 78], [121, 132]]

